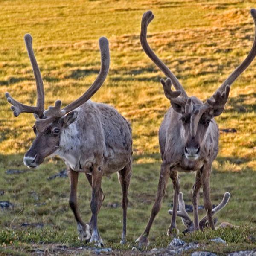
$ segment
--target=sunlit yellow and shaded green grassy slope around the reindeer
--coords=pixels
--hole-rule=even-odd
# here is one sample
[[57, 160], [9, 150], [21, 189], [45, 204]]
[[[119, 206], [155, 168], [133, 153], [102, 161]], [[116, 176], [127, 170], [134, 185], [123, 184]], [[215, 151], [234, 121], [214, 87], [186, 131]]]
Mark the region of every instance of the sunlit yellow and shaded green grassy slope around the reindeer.
[[[223, 1], [1, 1], [0, 8], [0, 201], [12, 209], [0, 210], [0, 244], [7, 250], [33, 243], [81, 246], [76, 224], [68, 206], [69, 181], [47, 177], [64, 169], [58, 158], [45, 160], [35, 171], [23, 166], [23, 154], [34, 138], [32, 115], [12, 116], [4, 97], [9, 91], [24, 104], [34, 104], [35, 82], [23, 36], [33, 36], [33, 47], [44, 80], [46, 107], [56, 99], [64, 105], [76, 99], [96, 78], [100, 67], [98, 39], [110, 41], [111, 66], [104, 85], [93, 96], [96, 102], [113, 105], [133, 128], [134, 164], [129, 191], [128, 241], [130, 249], [143, 232], [155, 198], [160, 170], [157, 132], [169, 101], [159, 79], [163, 74], [140, 46], [140, 20], [151, 9], [155, 15], [148, 28], [148, 41], [184, 85], [187, 93], [205, 100], [245, 58], [253, 42], [253, 2]], [[227, 239], [221, 252], [255, 248], [256, 236], [256, 61], [232, 85], [224, 113], [216, 118], [221, 129], [220, 150], [211, 175], [212, 203], [224, 192], [230, 202], [218, 214], [237, 229], [196, 233], [184, 239], [208, 243], [209, 236]], [[8, 175], [7, 169], [26, 170]], [[90, 186], [79, 178], [79, 207], [90, 218]], [[181, 173], [181, 191], [190, 204], [194, 174]], [[99, 231], [106, 245], [120, 249], [121, 201], [116, 175], [102, 181], [105, 201], [99, 213]], [[169, 185], [163, 207], [151, 229], [151, 247], [166, 246], [172, 203]], [[200, 199], [202, 204], [202, 198]], [[200, 212], [203, 216], [204, 212]], [[44, 228], [26, 229], [23, 222], [43, 223]], [[183, 229], [181, 221], [178, 227]], [[223, 232], [223, 233], [220, 233]], [[250, 234], [247, 236], [247, 234]], [[12, 240], [11, 240], [12, 239]], [[34, 239], [34, 240], [33, 240]], [[8, 240], [8, 241], [7, 241]], [[13, 244], [10, 244], [13, 241]], [[206, 245], [212, 247], [212, 245]], [[16, 248], [16, 249], [15, 249]], [[233, 248], [233, 249], [232, 249]], [[215, 250], [215, 249], [214, 249]], [[10, 252], [10, 253], [14, 253]], [[1, 254], [1, 250], [0, 250]]]

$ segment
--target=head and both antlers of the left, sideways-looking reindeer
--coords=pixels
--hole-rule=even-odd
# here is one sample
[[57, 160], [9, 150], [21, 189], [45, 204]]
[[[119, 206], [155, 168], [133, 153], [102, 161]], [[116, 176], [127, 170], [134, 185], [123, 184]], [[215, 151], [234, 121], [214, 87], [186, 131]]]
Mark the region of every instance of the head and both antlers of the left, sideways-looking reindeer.
[[76, 99], [74, 102], [62, 109], [61, 101], [57, 100], [55, 102], [55, 106], [50, 106], [48, 110], [44, 110], [44, 84], [32, 49], [32, 37], [31, 35], [26, 34], [24, 39], [35, 75], [37, 105], [24, 105], [13, 99], [9, 93], [6, 93], [6, 98], [7, 101], [12, 104], [11, 109], [14, 116], [17, 117], [20, 113], [34, 113], [36, 121], [33, 126], [33, 130], [36, 138], [29, 148], [29, 151], [26, 152], [23, 161], [29, 168], [36, 168], [43, 163], [45, 157], [53, 154], [58, 149], [61, 130], [67, 128], [68, 125], [76, 121], [78, 112], [75, 109], [89, 100], [102, 86], [108, 74], [110, 57], [108, 39], [102, 37], [99, 39], [101, 69], [91, 87], [79, 99]]

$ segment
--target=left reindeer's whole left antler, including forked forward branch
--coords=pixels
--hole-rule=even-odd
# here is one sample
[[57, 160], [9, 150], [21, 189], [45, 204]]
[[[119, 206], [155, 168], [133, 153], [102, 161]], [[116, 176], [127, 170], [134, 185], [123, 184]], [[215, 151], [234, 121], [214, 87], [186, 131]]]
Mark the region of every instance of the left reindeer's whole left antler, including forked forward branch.
[[41, 73], [37, 64], [37, 61], [35, 59], [35, 55], [32, 48], [32, 36], [29, 34], [26, 34], [24, 36], [26, 49], [29, 55], [29, 59], [32, 65], [32, 69], [35, 76], [35, 83], [37, 88], [37, 104], [35, 106], [28, 106], [24, 105], [17, 100], [13, 99], [9, 93], [6, 93], [5, 96], [7, 98], [7, 101], [12, 104], [12, 111], [14, 116], [19, 116], [20, 113], [34, 113], [39, 118], [44, 117], [44, 84], [41, 77]]

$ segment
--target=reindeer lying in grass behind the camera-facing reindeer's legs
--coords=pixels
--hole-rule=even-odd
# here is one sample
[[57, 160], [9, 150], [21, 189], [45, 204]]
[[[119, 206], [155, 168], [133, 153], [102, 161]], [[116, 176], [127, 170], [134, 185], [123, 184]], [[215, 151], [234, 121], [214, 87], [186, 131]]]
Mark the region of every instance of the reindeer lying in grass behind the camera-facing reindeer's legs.
[[[212, 216], [215, 215], [215, 213], [219, 212], [221, 209], [223, 209], [227, 205], [229, 199], [230, 199], [230, 193], [226, 192], [223, 196], [221, 203], [218, 204], [214, 209], [212, 209]], [[182, 223], [186, 227], [186, 229], [183, 230], [182, 233], [191, 233], [195, 230], [195, 225], [194, 225], [194, 222], [189, 217], [188, 213], [186, 212], [186, 207], [185, 207], [185, 203], [183, 200], [182, 192], [179, 193], [178, 200], [179, 200], [180, 211], [177, 212], [177, 216], [181, 217]], [[172, 215], [172, 210], [169, 210], [168, 212], [170, 215]], [[213, 222], [216, 225], [216, 223], [218, 222], [218, 218], [214, 218]], [[207, 222], [207, 215], [206, 215], [206, 216], [204, 216], [204, 218], [202, 218], [199, 221], [199, 227], [201, 230], [203, 230], [207, 226], [208, 226], [208, 222]]]

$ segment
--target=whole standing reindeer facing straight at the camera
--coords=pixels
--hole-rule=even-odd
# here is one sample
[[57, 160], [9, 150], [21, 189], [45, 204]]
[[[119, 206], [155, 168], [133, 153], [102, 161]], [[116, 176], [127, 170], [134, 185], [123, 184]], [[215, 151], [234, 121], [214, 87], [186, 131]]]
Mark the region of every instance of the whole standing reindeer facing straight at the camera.
[[[250, 11], [256, 25], [256, 10]], [[253, 47], [245, 60], [228, 76], [224, 83], [206, 102], [201, 102], [195, 96], [189, 97], [169, 68], [157, 57], [147, 42], [147, 27], [153, 20], [151, 11], [145, 12], [141, 21], [140, 42], [149, 58], [167, 76], [166, 81], [160, 79], [164, 94], [171, 102], [171, 108], [164, 116], [159, 129], [160, 153], [163, 160], [157, 195], [151, 211], [151, 216], [143, 234], [136, 240], [139, 247], [149, 244], [148, 235], [151, 225], [160, 211], [163, 196], [166, 192], [168, 178], [172, 179], [174, 187], [173, 214], [167, 235], [175, 235], [176, 216], [180, 182], [178, 171], [195, 171], [195, 184], [192, 191], [192, 204], [195, 230], [199, 230], [198, 196], [203, 186], [204, 208], [207, 212], [209, 227], [215, 228], [212, 219], [212, 203], [209, 195], [209, 180], [212, 162], [218, 154], [219, 130], [214, 117], [224, 110], [230, 92], [230, 85], [250, 65], [256, 55], [256, 38]], [[171, 85], [176, 91], [171, 89]]]

